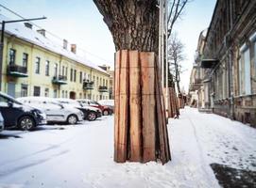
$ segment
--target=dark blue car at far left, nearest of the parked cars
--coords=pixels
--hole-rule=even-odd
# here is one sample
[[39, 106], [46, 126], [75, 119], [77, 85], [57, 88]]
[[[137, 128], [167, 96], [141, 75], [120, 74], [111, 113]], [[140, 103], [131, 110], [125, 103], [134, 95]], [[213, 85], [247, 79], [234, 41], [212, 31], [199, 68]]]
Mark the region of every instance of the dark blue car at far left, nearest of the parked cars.
[[17, 102], [9, 95], [0, 92], [0, 112], [5, 128], [19, 128], [30, 131], [38, 125], [46, 124], [43, 111]]

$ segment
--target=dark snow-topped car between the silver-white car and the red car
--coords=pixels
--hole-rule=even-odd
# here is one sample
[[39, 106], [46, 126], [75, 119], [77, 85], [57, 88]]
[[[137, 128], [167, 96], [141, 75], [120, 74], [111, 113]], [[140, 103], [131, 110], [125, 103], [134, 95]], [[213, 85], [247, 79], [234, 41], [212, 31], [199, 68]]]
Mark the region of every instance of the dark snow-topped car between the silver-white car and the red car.
[[64, 106], [71, 106], [77, 108], [78, 110], [83, 112], [84, 119], [90, 121], [95, 120], [96, 118], [100, 118], [102, 116], [102, 112], [100, 109], [92, 106], [83, 106], [76, 100], [57, 98], [56, 101], [60, 102]]

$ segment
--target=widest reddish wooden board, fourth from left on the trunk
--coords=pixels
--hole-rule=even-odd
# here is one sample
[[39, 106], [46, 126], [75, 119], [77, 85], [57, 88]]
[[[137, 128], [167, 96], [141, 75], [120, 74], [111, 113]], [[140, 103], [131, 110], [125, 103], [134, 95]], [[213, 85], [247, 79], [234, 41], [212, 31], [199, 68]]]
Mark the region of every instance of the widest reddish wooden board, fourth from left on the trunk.
[[142, 71], [143, 106], [143, 161], [156, 160], [156, 113], [155, 113], [155, 56], [154, 53], [140, 53]]

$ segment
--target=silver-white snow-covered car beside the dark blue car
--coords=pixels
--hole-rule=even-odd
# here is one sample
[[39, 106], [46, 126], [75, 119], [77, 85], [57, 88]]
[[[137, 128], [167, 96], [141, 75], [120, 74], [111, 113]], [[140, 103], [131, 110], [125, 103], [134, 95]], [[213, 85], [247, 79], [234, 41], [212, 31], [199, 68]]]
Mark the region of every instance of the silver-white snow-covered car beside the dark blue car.
[[83, 120], [83, 113], [74, 107], [63, 106], [53, 98], [47, 97], [23, 97], [17, 99], [32, 107], [37, 107], [46, 114], [47, 123], [64, 122], [67, 124], [77, 124]]

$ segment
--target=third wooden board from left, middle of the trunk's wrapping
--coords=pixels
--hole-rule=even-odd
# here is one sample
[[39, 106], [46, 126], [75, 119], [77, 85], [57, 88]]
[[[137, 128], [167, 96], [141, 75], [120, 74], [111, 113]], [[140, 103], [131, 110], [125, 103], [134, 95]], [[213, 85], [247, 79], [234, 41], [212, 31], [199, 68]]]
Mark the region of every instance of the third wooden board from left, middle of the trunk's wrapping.
[[129, 51], [130, 162], [142, 162], [142, 98], [139, 52]]

